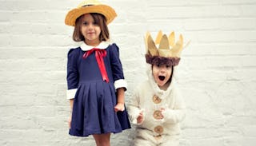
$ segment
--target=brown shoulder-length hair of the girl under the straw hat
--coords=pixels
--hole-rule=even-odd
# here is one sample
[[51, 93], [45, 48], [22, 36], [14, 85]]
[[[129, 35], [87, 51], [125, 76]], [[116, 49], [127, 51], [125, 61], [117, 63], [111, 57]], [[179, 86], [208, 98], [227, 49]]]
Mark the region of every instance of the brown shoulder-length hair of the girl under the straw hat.
[[[107, 41], [110, 38], [110, 32], [106, 25], [106, 18], [102, 14], [90, 14], [94, 18], [94, 22], [100, 27], [101, 34], [99, 34], [99, 41]], [[83, 16], [83, 15], [82, 15]], [[77, 18], [74, 26], [73, 40], [74, 41], [85, 41], [85, 37], [83, 37], [81, 33], [82, 26], [82, 16]]]

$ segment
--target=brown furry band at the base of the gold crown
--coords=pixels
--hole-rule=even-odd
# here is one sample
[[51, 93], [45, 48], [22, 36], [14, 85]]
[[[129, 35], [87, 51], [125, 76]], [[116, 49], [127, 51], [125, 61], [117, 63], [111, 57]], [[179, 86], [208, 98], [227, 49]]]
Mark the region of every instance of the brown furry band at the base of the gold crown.
[[178, 62], [181, 60], [180, 57], [159, 57], [159, 56], [151, 56], [150, 54], [146, 54], [146, 63], [151, 65], [170, 65], [175, 66], [178, 65]]

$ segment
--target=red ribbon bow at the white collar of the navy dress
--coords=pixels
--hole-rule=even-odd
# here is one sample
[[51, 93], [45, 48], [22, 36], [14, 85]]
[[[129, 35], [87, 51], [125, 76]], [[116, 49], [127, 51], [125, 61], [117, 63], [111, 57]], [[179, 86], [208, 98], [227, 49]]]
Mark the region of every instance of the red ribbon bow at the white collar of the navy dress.
[[90, 49], [89, 51], [84, 53], [82, 57], [85, 59], [86, 57], [90, 56], [90, 54], [93, 53], [94, 51], [95, 51], [96, 61], [98, 63], [98, 68], [102, 73], [102, 79], [103, 81], [109, 82], [110, 80], [109, 80], [109, 77], [107, 77], [106, 67], [103, 60], [103, 57], [106, 57], [105, 49], [98, 49], [98, 48]]

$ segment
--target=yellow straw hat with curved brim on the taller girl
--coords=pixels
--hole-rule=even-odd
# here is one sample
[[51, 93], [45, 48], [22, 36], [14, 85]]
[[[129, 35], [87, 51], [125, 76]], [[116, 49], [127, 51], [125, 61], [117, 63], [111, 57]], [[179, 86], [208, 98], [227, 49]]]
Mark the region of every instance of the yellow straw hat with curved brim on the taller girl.
[[86, 0], [81, 2], [77, 8], [70, 10], [66, 14], [65, 24], [68, 26], [75, 26], [75, 21], [82, 14], [97, 13], [106, 17], [106, 24], [109, 24], [117, 16], [114, 9], [110, 6], [103, 5], [97, 0]]

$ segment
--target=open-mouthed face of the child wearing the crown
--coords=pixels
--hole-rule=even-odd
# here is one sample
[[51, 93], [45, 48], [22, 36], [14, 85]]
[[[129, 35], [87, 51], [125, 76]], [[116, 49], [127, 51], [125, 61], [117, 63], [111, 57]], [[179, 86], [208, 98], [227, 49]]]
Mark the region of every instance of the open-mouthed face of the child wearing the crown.
[[152, 72], [154, 81], [159, 87], [162, 87], [169, 81], [172, 68], [170, 65], [153, 65]]

